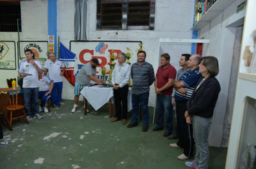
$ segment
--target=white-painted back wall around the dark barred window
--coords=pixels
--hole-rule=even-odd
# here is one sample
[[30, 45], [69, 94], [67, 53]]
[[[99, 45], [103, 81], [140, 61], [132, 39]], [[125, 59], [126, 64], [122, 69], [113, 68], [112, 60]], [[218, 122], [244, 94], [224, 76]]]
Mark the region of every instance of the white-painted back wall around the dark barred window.
[[[22, 32], [20, 40], [40, 40], [47, 41], [47, 1], [21, 1], [22, 6]], [[74, 14], [75, 1], [58, 1], [58, 36], [60, 42], [69, 48], [70, 40], [74, 39]], [[184, 1], [164, 1], [157, 0], [155, 4], [155, 30], [154, 31], [97, 31], [96, 30], [96, 1], [88, 1], [88, 40], [133, 40], [142, 41], [147, 52], [147, 62], [150, 62], [155, 72], [159, 60], [159, 39], [160, 38], [180, 38], [191, 39], [193, 21], [193, 0]], [[17, 42], [17, 33], [0, 33], [1, 40], [14, 40]], [[191, 47], [177, 47], [170, 44], [164, 47], [164, 52], [172, 52], [178, 49], [178, 57], [182, 53], [190, 53]], [[188, 46], [188, 47], [187, 47]], [[17, 56], [16, 56], [17, 57]], [[135, 56], [133, 56], [135, 57]], [[178, 57], [173, 62], [178, 62]], [[6, 87], [6, 78], [17, 77], [17, 71], [1, 70], [0, 86]], [[63, 79], [63, 99], [73, 100], [73, 86]], [[150, 106], [155, 105], [155, 92], [150, 92]]]

